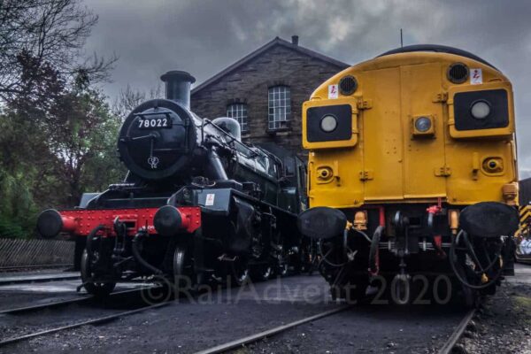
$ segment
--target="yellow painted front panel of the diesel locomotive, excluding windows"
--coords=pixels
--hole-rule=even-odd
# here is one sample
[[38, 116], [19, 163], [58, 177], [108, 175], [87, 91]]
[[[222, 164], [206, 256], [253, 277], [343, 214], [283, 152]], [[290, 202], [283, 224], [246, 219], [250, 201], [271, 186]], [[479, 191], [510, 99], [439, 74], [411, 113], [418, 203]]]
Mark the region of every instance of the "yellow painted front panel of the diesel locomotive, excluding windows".
[[[453, 63], [482, 71], [482, 84], [447, 79]], [[328, 86], [354, 76], [358, 89], [328, 99]], [[453, 98], [458, 92], [504, 89], [509, 125], [458, 131]], [[309, 107], [350, 104], [349, 142], [312, 142], [306, 137]], [[355, 112], [355, 113], [354, 113]], [[413, 119], [429, 117], [434, 128], [415, 133]], [[310, 206], [335, 208], [363, 204], [504, 202], [504, 185], [517, 181], [512, 86], [489, 65], [453, 54], [413, 52], [366, 61], [336, 74], [312, 94], [303, 109], [304, 148], [309, 154]], [[489, 169], [489, 162], [496, 168]]]

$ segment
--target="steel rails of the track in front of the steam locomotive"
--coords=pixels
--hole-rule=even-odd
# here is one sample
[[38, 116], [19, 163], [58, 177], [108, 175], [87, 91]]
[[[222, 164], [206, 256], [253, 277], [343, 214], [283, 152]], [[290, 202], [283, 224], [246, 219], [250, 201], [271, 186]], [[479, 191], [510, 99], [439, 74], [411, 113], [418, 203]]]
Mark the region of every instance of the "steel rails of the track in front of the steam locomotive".
[[[153, 289], [151, 289], [151, 290], [153, 290]], [[107, 299], [113, 298], [113, 297], [119, 297], [119, 296], [129, 296], [129, 295], [132, 296], [132, 295], [135, 295], [135, 293], [138, 293], [140, 295], [142, 291], [145, 291], [145, 288], [144, 289], [133, 289], [133, 290], [119, 291], [119, 292], [116, 292], [116, 293], [112, 293], [112, 295], [107, 297]], [[80, 297], [80, 298], [68, 299], [68, 300], [58, 301], [58, 302], [49, 303], [49, 304], [39, 304], [39, 305], [35, 305], [35, 306], [26, 306], [26, 307], [20, 307], [20, 308], [16, 308], [16, 309], [11, 309], [11, 310], [5, 310], [3, 312], [0, 312], [0, 314], [1, 315], [16, 315], [16, 314], [19, 314], [19, 313], [22, 313], [22, 312], [39, 312], [39, 311], [42, 311], [42, 310], [45, 310], [45, 309], [57, 308], [59, 306], [75, 304], [75, 303], [83, 303], [83, 302], [88, 302], [90, 300], [96, 300], [96, 298], [94, 296], [83, 296], [83, 297]], [[112, 313], [110, 315], [104, 315], [104, 316], [98, 316], [98, 317], [93, 317], [93, 318], [89, 318], [89, 319], [77, 320], [77, 321], [74, 321], [73, 323], [70, 323], [70, 324], [67, 324], [67, 325], [64, 325], [64, 326], [50, 327], [48, 329], [35, 331], [35, 332], [29, 333], [29, 334], [25, 334], [25, 335], [13, 336], [13, 337], [1, 340], [0, 341], [0, 348], [6, 346], [8, 344], [12, 344], [14, 342], [26, 341], [28, 339], [35, 338], [35, 337], [41, 336], [41, 335], [50, 335], [50, 334], [57, 333], [57, 332], [60, 332], [60, 331], [65, 331], [67, 329], [73, 329], [73, 328], [76, 328], [76, 327], [81, 327], [81, 326], [86, 326], [86, 325], [95, 325], [95, 324], [99, 324], [99, 323], [108, 322], [108, 321], [111, 321], [113, 319], [119, 319], [119, 318], [122, 318], [122, 317], [125, 317], [125, 316], [133, 315], [133, 314], [138, 313], [138, 312], [143, 312], [143, 311], [148, 311], [148, 310], [151, 310], [151, 309], [156, 309], [156, 308], [165, 306], [167, 304], [170, 304], [170, 302], [169, 301], [163, 301], [163, 302], [158, 303], [158, 304], [146, 304], [145, 306], [142, 306], [142, 307], [134, 309], [134, 310], [127, 310], [127, 311], [123, 311], [123, 312]]]

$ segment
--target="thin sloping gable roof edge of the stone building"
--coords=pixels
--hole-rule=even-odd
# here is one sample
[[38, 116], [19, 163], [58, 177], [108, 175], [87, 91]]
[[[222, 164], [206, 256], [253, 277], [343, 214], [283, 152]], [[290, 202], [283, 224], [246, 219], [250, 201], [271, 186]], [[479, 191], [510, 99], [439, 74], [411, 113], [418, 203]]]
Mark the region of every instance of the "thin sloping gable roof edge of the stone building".
[[321, 61], [327, 62], [331, 65], [335, 65], [338, 68], [344, 69], [350, 66], [350, 64], [343, 63], [342, 61], [336, 60], [335, 58], [327, 57], [326, 55], [320, 54], [317, 51], [309, 50], [307, 48], [301, 47], [298, 44], [294, 44], [292, 42], [288, 42], [286, 40], [283, 40], [279, 37], [275, 37], [273, 41], [267, 42], [262, 47], [258, 48], [258, 50], [254, 50], [250, 54], [246, 55], [245, 57], [241, 58], [240, 60], [236, 61], [235, 64], [228, 66], [224, 70], [220, 71], [219, 73], [212, 76], [210, 79], [202, 82], [200, 85], [196, 86], [196, 88], [192, 89], [192, 95], [197, 93], [198, 91], [201, 91], [205, 87], [211, 85], [212, 83], [219, 81], [222, 77], [227, 75], [228, 73], [234, 72], [236, 69], [238, 69], [240, 66], [248, 63], [250, 60], [257, 58], [262, 53], [265, 53], [267, 50], [272, 49], [273, 47], [280, 45], [285, 48], [289, 48], [290, 50], [296, 50], [299, 53], [302, 53], [308, 57], [316, 58]]

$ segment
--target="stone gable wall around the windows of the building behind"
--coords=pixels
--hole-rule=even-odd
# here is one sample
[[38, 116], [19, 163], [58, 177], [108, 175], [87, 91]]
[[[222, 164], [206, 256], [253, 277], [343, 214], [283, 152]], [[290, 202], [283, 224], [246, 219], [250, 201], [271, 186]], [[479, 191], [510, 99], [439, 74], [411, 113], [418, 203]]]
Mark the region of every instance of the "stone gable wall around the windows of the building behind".
[[[228, 104], [247, 104], [249, 130], [242, 136], [243, 142], [276, 142], [305, 158], [307, 153], [301, 142], [302, 105], [314, 89], [341, 70], [337, 65], [276, 45], [193, 93], [191, 108], [200, 117], [214, 119], [226, 115]], [[267, 93], [277, 85], [290, 88], [291, 121], [288, 129], [273, 132], [267, 130]]]

